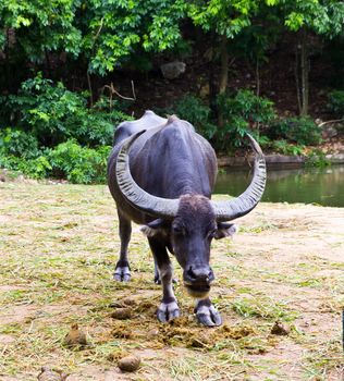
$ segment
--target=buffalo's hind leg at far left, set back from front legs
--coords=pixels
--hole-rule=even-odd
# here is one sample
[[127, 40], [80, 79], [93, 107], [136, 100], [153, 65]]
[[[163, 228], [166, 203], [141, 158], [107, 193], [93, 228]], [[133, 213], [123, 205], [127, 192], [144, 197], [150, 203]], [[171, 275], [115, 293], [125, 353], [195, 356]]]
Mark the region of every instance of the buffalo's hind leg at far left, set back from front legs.
[[127, 247], [132, 235], [132, 223], [118, 209], [119, 231], [121, 238], [120, 259], [115, 265], [113, 278], [119, 282], [128, 282], [131, 280], [131, 269], [127, 260]]

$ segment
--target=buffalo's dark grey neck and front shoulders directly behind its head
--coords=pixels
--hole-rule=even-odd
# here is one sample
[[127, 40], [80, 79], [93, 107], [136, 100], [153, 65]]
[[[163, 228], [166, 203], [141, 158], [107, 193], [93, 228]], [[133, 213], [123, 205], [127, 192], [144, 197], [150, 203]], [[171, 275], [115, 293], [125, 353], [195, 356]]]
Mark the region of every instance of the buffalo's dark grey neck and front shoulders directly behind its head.
[[188, 127], [169, 125], [134, 153], [133, 177], [149, 194], [163, 198], [186, 194], [210, 197], [216, 158], [208, 143]]

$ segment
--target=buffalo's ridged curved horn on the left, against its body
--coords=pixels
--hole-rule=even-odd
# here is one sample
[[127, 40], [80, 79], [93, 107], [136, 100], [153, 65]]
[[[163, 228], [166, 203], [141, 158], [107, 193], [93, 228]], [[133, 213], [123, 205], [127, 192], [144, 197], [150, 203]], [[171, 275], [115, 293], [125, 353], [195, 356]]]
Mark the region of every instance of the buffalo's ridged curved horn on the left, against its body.
[[128, 150], [145, 131], [132, 135], [122, 145], [115, 163], [115, 175], [122, 195], [137, 210], [156, 218], [171, 219], [176, 216], [180, 200], [152, 196], [140, 188], [130, 170]]

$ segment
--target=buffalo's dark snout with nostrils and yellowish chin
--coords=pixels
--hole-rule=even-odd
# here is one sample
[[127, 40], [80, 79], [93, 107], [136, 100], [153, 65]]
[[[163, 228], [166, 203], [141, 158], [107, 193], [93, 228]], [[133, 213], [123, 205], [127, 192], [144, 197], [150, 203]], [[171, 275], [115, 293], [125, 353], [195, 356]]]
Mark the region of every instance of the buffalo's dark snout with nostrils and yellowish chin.
[[209, 266], [187, 266], [183, 279], [191, 296], [205, 298], [209, 294], [214, 275]]

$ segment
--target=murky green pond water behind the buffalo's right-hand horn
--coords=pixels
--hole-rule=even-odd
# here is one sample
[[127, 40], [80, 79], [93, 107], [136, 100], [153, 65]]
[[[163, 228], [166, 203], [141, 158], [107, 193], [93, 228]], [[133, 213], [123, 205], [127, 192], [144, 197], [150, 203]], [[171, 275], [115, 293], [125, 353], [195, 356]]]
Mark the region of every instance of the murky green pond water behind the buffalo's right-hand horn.
[[[249, 169], [228, 169], [225, 173], [220, 171], [214, 193], [237, 196], [245, 190], [251, 175]], [[262, 201], [344, 207], [344, 165], [323, 169], [268, 169]]]

